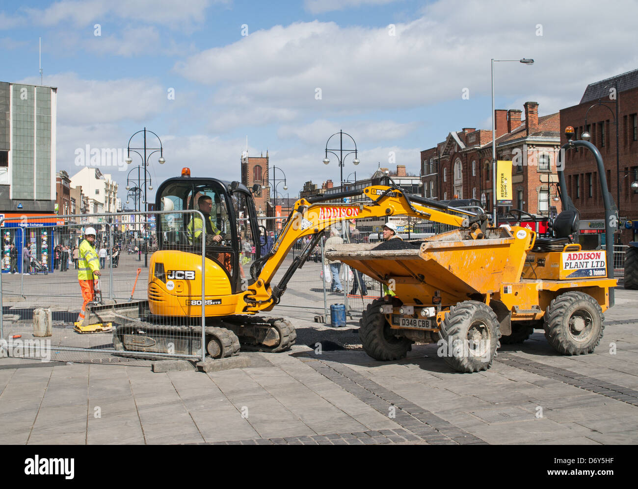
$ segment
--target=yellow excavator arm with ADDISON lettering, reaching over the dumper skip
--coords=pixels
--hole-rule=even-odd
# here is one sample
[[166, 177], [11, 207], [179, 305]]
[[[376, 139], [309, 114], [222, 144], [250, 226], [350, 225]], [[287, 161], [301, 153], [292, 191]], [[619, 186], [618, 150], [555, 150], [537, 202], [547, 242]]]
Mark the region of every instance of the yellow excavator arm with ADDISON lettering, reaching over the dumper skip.
[[[360, 195], [365, 195], [369, 201], [355, 204], [328, 202]], [[453, 215], [447, 211], [454, 211], [461, 215]], [[454, 208], [443, 202], [408, 194], [401, 188], [384, 185], [372, 185], [360, 190], [299, 199], [295, 202], [272, 250], [251, 267], [253, 282], [248, 286], [248, 291], [243, 297], [246, 302], [244, 310], [248, 312], [272, 309], [279, 302], [279, 297], [286, 290], [292, 275], [304, 264], [308, 253], [315, 248], [321, 239], [322, 231], [327, 227], [347, 220], [393, 215], [406, 215], [458, 227], [471, 227], [475, 237], [481, 237], [480, 232], [485, 231], [487, 223], [487, 216], [483, 213], [477, 214]], [[271, 287], [272, 278], [295, 241], [311, 235], [313, 239], [308, 246], [295, 257], [278, 285]]]

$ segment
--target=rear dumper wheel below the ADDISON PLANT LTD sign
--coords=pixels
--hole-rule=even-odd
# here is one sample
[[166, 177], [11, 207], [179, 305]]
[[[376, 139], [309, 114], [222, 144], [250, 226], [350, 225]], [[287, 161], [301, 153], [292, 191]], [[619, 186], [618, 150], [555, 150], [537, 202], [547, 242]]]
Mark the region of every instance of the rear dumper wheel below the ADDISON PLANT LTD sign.
[[562, 355], [591, 353], [600, 343], [605, 316], [598, 301], [583, 292], [565, 292], [545, 313], [545, 338]]

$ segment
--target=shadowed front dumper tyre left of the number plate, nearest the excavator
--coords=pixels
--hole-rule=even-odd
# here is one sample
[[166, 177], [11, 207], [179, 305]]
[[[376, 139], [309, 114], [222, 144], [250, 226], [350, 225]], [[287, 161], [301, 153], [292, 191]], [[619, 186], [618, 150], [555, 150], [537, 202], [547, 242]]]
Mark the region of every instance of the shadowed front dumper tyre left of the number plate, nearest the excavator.
[[359, 320], [359, 338], [366, 353], [375, 360], [399, 360], [412, 350], [413, 341], [397, 337], [397, 330], [390, 329], [385, 315], [379, 312], [383, 299], [368, 304]]

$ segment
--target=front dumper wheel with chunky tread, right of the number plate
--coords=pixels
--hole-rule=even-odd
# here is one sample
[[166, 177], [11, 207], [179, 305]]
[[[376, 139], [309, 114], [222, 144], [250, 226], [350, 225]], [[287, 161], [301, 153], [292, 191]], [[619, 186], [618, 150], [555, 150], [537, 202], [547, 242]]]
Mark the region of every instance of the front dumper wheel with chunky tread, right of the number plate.
[[443, 344], [438, 355], [457, 372], [471, 373], [492, 365], [501, 332], [491, 307], [484, 302], [464, 301], [450, 308], [439, 336]]

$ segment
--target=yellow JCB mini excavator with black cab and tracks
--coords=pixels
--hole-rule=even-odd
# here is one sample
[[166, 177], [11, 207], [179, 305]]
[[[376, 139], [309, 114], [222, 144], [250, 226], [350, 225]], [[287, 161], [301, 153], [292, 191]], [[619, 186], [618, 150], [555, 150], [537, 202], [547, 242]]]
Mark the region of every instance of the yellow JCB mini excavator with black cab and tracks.
[[[484, 214], [371, 185], [329, 197], [299, 199], [272, 249], [262, 256], [265, 228], [255, 211], [253, 192], [257, 191], [258, 186], [249, 189], [237, 181], [191, 177], [188, 168], [163, 182], [156, 208], [170, 212], [156, 219], [159, 250], [149, 261], [148, 300], [89, 306], [86, 321], [112, 322], [116, 326], [114, 346], [119, 351], [200, 355], [202, 316], [204, 348], [213, 358], [237, 355], [240, 348], [283, 351], [295, 343], [295, 329], [283, 318], [263, 318], [256, 313], [278, 304], [293, 273], [302, 267], [327, 227], [371, 216], [409, 215], [464, 226], [475, 237], [486, 229]], [[366, 198], [362, 203], [343, 203], [344, 197], [355, 195]], [[212, 202], [204, 260], [202, 218], [188, 212], [198, 209], [202, 197]], [[450, 210], [457, 210], [457, 215], [448, 213]], [[305, 236], [311, 237], [308, 245], [279, 283], [272, 283], [295, 241]]]

